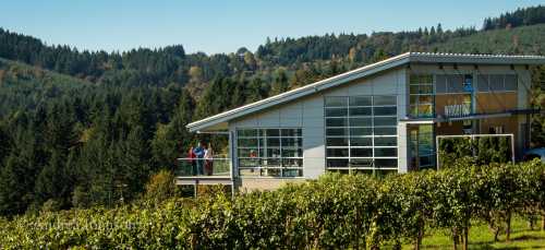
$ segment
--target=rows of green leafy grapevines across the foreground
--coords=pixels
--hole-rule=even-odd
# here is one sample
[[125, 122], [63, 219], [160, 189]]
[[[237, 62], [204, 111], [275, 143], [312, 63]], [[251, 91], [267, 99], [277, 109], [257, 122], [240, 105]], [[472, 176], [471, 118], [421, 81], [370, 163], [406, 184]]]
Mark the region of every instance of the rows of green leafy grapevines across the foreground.
[[[0, 218], [0, 248], [419, 249], [431, 230], [467, 249], [472, 225], [510, 240], [512, 218], [545, 226], [545, 165], [458, 160], [377, 179], [326, 175], [277, 191]], [[543, 229], [543, 228], [542, 228]]]

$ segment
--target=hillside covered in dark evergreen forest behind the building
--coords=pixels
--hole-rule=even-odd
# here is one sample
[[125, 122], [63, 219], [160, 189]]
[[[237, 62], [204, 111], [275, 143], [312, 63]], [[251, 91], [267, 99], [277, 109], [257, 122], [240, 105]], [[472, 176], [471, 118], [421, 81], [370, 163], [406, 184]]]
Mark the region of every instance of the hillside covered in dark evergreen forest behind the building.
[[[195, 142], [184, 128], [191, 120], [404, 51], [544, 55], [545, 24], [525, 20], [267, 39], [255, 52], [227, 55], [185, 53], [181, 45], [78, 51], [0, 28], [0, 215], [131, 200]], [[542, 107], [544, 72], [535, 69], [532, 99]], [[545, 144], [543, 119], [534, 145]]]

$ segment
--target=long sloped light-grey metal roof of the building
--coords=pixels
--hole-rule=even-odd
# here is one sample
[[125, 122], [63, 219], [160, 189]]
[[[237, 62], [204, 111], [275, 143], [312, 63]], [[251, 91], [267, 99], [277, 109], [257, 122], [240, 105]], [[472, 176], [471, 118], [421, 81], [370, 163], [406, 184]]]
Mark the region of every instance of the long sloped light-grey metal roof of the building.
[[470, 55], [405, 52], [376, 63], [372, 63], [342, 74], [335, 75], [259, 102], [244, 105], [225, 112], [191, 122], [186, 128], [194, 132], [218, 127], [229, 120], [250, 115], [279, 104], [301, 98], [356, 79], [366, 78], [405, 63], [460, 63], [460, 64], [545, 64], [543, 56]]

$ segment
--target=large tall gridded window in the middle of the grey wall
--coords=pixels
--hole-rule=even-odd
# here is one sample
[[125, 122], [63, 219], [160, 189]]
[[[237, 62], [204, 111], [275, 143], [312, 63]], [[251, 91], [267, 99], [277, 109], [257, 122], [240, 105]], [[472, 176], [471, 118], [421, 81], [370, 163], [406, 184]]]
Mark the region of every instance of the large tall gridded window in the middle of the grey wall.
[[[433, 78], [423, 75], [414, 82], [425, 83], [422, 88], [416, 85], [416, 102], [432, 106], [433, 97], [421, 95], [420, 92], [433, 93]], [[326, 97], [328, 98], [330, 97]], [[325, 111], [327, 168], [334, 171], [372, 170], [376, 168], [375, 160], [383, 160], [378, 166], [397, 168], [397, 97], [336, 98], [342, 105], [326, 107]], [[346, 106], [343, 99], [349, 100]], [[348, 114], [329, 109], [348, 109]]]

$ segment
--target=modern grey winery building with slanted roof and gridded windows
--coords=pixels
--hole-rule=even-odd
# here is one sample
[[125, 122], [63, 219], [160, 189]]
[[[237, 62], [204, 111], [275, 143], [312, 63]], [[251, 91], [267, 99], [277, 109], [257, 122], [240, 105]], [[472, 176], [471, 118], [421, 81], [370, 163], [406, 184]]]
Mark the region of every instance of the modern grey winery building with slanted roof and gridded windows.
[[530, 141], [530, 67], [545, 57], [407, 52], [187, 124], [229, 136], [222, 172], [178, 183], [276, 188], [326, 171], [435, 167], [435, 138]]

